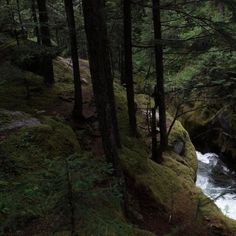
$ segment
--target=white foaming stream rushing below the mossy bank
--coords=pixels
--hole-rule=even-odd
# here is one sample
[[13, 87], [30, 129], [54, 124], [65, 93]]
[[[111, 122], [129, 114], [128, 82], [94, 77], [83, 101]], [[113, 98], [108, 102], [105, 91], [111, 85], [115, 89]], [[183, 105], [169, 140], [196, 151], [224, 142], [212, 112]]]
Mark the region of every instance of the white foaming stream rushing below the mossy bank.
[[229, 218], [236, 220], [236, 173], [229, 170], [214, 153], [197, 152], [198, 173], [196, 185]]

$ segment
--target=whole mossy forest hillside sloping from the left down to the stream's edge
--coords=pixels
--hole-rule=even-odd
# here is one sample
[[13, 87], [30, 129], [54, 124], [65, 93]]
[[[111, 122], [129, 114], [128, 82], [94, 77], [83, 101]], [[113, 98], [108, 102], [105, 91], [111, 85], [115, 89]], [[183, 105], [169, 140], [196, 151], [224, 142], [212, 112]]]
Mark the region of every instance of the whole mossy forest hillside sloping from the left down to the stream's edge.
[[[181, 155], [170, 146], [163, 165], [151, 161], [148, 133], [140, 131], [138, 139], [128, 135], [125, 90], [115, 82], [120, 157], [129, 189], [124, 216], [117, 180], [103, 158], [88, 62], [81, 60], [81, 73], [87, 80], [85, 115], [93, 119], [81, 124], [70, 117], [73, 83], [68, 60], [57, 58], [54, 68], [56, 84], [44, 87], [40, 76], [10, 61], [0, 65], [3, 235], [70, 235], [73, 227], [85, 236], [236, 235], [236, 223], [195, 187], [197, 160], [186, 130], [177, 122], [170, 137], [171, 143], [184, 141]], [[136, 99], [144, 107], [146, 96]], [[145, 130], [142, 109], [138, 122]]]

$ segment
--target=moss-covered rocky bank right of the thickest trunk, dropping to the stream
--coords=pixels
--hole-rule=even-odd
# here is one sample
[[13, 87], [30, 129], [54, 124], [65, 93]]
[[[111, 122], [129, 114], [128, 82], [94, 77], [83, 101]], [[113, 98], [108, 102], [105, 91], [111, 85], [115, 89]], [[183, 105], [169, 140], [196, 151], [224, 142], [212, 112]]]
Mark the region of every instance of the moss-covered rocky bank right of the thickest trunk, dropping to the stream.
[[[123, 141], [121, 164], [132, 196], [129, 201], [136, 202], [138, 213], [135, 215], [141, 215], [137, 222], [141, 220], [147, 229], [160, 235], [163, 232], [214, 235], [214, 226], [221, 228], [226, 235], [235, 235], [236, 222], [225, 217], [214, 202], [195, 186], [198, 169], [196, 150], [181, 123], [175, 122], [164, 161], [161, 165], [157, 164], [150, 159], [150, 137], [147, 133], [140, 132], [139, 138], [129, 137], [121, 88], [118, 88], [118, 94], [121, 94], [117, 99]], [[149, 102], [148, 97], [139, 94], [136, 101], [141, 108], [137, 119], [139, 124], [145, 126], [143, 109]], [[167, 123], [171, 124], [172, 120], [168, 115]], [[180, 155], [172, 145], [176, 140], [184, 143]], [[161, 228], [164, 230], [161, 231]]]

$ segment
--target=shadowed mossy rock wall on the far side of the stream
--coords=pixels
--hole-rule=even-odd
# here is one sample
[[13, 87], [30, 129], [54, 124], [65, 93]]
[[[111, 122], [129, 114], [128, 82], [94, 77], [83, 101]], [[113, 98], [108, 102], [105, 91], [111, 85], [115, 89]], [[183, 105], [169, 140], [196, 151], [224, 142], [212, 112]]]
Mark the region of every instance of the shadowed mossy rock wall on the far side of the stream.
[[[203, 108], [204, 106], [208, 106]], [[181, 117], [186, 129], [203, 150], [214, 150], [224, 156], [230, 166], [236, 168], [235, 133], [236, 124], [234, 105], [214, 101], [193, 104], [193, 111]], [[186, 106], [186, 111], [190, 108]], [[191, 108], [192, 109], [192, 108]], [[212, 136], [215, 138], [212, 139]]]

